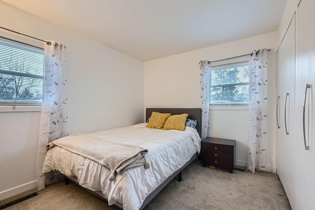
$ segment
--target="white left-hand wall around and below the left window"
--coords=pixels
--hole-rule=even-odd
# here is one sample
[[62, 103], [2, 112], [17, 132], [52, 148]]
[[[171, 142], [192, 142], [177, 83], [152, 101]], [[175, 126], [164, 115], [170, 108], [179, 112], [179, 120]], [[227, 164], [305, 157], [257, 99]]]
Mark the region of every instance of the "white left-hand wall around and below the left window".
[[[65, 43], [70, 134], [143, 121], [143, 61], [3, 2], [0, 26]], [[0, 200], [37, 186], [39, 124], [40, 112], [0, 112]]]

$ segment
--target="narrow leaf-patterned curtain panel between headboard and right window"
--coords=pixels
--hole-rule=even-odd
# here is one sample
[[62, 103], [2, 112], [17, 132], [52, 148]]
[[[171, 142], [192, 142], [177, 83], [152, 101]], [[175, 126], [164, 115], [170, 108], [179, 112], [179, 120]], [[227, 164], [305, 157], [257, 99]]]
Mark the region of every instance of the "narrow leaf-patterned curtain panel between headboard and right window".
[[212, 64], [208, 60], [200, 60], [200, 86], [202, 104], [201, 139], [207, 137], [209, 127], [210, 82]]

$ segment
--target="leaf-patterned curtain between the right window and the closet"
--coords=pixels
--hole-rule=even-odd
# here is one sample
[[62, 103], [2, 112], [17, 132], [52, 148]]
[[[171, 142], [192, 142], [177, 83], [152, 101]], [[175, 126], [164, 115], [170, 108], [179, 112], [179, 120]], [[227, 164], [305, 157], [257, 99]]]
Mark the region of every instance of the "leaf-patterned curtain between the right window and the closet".
[[254, 51], [250, 60], [249, 141], [247, 169], [270, 172], [267, 121], [267, 50]]

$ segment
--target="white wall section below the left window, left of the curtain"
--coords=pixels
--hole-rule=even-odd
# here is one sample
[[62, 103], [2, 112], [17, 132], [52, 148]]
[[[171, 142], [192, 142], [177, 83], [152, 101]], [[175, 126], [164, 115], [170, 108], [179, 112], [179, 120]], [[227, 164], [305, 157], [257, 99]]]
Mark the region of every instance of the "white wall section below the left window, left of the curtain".
[[39, 118], [40, 112], [0, 113], [0, 200], [37, 186]]

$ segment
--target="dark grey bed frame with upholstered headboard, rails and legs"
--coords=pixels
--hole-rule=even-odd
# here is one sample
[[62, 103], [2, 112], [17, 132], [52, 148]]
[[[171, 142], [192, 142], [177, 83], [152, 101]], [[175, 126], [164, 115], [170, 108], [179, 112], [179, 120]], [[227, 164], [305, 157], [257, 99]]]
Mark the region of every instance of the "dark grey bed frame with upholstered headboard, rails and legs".
[[[159, 112], [159, 113], [171, 113], [172, 115], [180, 115], [187, 113], [188, 118], [191, 120], [197, 120], [197, 131], [199, 136], [201, 136], [201, 109], [200, 108], [147, 108], [146, 109], [146, 120], [148, 120], [152, 114], [152, 112]], [[164, 180], [158, 187], [147, 196], [144, 200], [140, 210], [142, 210], [149, 202], [176, 176], [178, 176], [178, 181], [182, 181], [182, 170], [186, 168], [193, 160], [198, 158], [198, 153], [195, 153], [189, 161], [180, 169], [175, 171], [171, 176], [169, 176], [166, 180]], [[69, 181], [73, 181], [78, 184], [78, 180], [76, 177], [66, 177], [64, 176], [65, 184], [69, 184]], [[84, 187], [83, 187], [84, 188]], [[92, 191], [90, 189], [84, 188], [90, 193], [94, 194], [95, 196], [99, 197], [102, 200], [108, 201], [108, 198], [101, 192], [101, 191]], [[123, 205], [116, 203], [115, 206], [123, 209]]]

